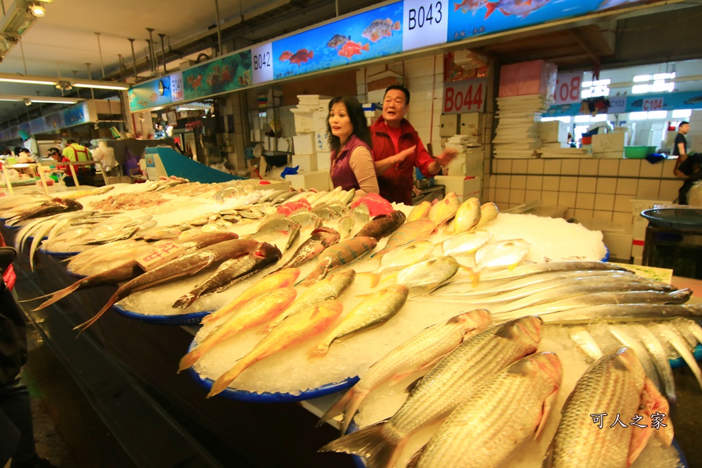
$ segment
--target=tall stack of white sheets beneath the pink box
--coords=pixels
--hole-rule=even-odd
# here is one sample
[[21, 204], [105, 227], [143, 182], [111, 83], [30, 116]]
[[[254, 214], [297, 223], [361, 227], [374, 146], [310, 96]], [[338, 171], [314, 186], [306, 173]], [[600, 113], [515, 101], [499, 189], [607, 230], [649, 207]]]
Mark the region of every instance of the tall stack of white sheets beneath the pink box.
[[538, 121], [550, 102], [542, 95], [497, 98], [499, 119], [492, 140], [496, 158], [536, 158], [541, 148]]

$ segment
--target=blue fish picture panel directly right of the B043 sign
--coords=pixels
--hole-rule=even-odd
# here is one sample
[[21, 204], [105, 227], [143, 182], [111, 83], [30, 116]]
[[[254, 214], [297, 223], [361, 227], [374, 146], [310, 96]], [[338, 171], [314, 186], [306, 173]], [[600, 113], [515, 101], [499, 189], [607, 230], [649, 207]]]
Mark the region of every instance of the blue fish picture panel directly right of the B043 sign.
[[[445, 1], [445, 0], [443, 0]], [[447, 42], [623, 8], [650, 0], [453, 0]]]

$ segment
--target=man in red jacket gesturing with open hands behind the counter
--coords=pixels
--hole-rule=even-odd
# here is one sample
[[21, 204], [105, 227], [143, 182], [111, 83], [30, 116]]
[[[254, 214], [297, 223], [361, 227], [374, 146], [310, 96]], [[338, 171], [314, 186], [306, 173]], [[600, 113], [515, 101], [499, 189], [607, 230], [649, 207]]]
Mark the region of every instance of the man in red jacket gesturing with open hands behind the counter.
[[425, 177], [434, 177], [458, 152], [448, 148], [432, 158], [404, 118], [408, 107], [409, 91], [404, 86], [388, 86], [383, 115], [371, 126], [371, 135], [380, 195], [388, 201], [411, 205], [414, 168], [419, 168]]

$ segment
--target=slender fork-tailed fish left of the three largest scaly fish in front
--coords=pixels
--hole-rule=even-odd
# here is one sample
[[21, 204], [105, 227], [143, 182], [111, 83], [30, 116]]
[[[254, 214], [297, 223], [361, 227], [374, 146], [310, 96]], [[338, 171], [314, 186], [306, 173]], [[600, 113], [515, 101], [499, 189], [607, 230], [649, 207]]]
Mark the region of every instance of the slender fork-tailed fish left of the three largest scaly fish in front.
[[395, 385], [411, 373], [429, 368], [461, 342], [484, 331], [491, 323], [489, 312], [475, 309], [425, 328], [374, 363], [361, 380], [327, 410], [317, 426], [343, 413], [340, 429], [341, 434], [345, 434], [359, 406], [373, 390], [385, 383]]

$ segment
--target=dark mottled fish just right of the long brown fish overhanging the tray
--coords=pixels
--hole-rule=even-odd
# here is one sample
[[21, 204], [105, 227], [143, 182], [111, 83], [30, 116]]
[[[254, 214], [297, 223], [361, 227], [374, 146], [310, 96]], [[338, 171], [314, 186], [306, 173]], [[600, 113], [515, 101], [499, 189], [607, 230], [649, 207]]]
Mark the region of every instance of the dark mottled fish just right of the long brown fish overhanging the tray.
[[262, 242], [260, 246], [241, 257], [225, 260], [216, 272], [207, 279], [197, 284], [189, 293], [181, 296], [173, 303], [173, 308], [185, 309], [201, 295], [221, 293], [232, 287], [235, 283], [259, 272], [268, 265], [274, 265], [280, 260], [282, 253], [279, 248], [270, 243]]

